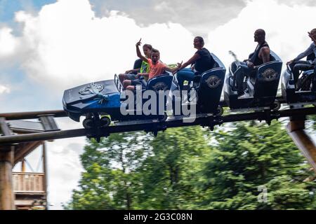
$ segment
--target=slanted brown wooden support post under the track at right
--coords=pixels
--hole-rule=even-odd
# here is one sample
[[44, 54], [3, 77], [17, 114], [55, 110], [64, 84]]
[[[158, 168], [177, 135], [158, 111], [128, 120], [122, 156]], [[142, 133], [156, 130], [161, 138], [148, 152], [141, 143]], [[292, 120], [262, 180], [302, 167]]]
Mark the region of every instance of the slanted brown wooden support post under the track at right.
[[305, 131], [305, 116], [292, 117], [287, 125], [287, 132], [316, 172], [316, 146]]

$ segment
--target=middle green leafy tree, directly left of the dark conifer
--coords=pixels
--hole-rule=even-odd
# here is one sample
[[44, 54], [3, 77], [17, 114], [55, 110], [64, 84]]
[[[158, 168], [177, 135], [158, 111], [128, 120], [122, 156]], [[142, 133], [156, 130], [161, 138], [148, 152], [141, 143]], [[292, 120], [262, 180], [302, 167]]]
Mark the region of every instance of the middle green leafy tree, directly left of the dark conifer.
[[201, 127], [166, 130], [152, 139], [152, 155], [140, 166], [142, 209], [198, 209], [202, 165], [211, 148]]

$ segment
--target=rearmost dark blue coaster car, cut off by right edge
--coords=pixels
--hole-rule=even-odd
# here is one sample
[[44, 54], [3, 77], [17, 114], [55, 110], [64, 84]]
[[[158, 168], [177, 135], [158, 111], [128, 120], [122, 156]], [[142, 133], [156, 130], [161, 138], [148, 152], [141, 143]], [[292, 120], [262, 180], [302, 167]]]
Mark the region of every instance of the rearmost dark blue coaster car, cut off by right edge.
[[[315, 55], [309, 55], [307, 60], [314, 59]], [[289, 105], [303, 105], [316, 103], [316, 78], [315, 69], [301, 73], [298, 82], [294, 83], [294, 75], [290, 66], [282, 76], [282, 97]]]

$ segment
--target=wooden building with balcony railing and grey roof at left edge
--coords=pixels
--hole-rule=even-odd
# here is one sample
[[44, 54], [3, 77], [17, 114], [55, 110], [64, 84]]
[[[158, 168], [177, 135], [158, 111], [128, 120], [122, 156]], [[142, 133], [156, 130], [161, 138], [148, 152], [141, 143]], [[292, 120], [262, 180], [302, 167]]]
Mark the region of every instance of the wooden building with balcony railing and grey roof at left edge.
[[[22, 115], [13, 113], [11, 121], [0, 116], [0, 135], [14, 137], [25, 133], [59, 130], [50, 113], [37, 114], [40, 122], [15, 120], [16, 116], [30, 115], [29, 113], [22, 113]], [[60, 116], [62, 116], [62, 113], [60, 113]], [[42, 146], [43, 150], [41, 158], [43, 171], [27, 173], [25, 172], [25, 162], [27, 162], [25, 157], [39, 146]], [[22, 172], [13, 172], [13, 167], [18, 162], [22, 162]], [[44, 141], [30, 141], [20, 144], [0, 143], [0, 210], [47, 209], [46, 172], [46, 146]]]

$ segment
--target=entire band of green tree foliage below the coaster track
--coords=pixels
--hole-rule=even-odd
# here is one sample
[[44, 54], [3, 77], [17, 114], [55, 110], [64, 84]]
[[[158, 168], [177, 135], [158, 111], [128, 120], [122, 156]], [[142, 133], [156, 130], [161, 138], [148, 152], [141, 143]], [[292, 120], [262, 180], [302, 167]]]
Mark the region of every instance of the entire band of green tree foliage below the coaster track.
[[278, 122], [112, 134], [81, 163], [65, 209], [316, 209], [310, 166]]

